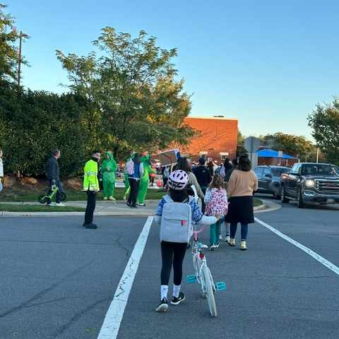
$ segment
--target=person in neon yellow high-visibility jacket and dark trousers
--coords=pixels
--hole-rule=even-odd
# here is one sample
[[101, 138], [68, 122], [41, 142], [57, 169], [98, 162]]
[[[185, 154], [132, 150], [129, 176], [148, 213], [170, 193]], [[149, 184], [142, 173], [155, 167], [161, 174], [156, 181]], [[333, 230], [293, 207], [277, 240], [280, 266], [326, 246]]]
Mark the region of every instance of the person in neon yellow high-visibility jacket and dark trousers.
[[83, 191], [87, 194], [87, 206], [85, 210], [85, 222], [83, 227], [95, 230], [97, 225], [93, 224], [93, 214], [97, 203], [97, 192], [99, 191], [99, 171], [100, 150], [93, 150], [92, 157], [86, 162], [83, 175]]

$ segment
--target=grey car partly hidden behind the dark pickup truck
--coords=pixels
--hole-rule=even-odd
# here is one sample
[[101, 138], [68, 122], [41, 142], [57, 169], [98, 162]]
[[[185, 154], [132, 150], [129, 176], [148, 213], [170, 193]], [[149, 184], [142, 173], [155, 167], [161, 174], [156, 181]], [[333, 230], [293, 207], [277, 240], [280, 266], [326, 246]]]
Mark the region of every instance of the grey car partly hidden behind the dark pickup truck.
[[283, 166], [258, 166], [254, 169], [258, 178], [258, 189], [254, 193], [273, 194], [275, 199], [280, 199], [280, 176], [290, 172], [290, 167]]

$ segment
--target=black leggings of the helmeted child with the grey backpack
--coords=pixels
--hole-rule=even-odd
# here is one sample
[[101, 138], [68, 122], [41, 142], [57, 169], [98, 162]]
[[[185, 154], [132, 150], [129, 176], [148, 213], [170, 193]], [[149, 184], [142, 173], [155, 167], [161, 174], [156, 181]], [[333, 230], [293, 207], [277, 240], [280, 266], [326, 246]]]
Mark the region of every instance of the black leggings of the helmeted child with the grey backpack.
[[173, 283], [181, 285], [182, 283], [182, 262], [186, 254], [186, 243], [182, 242], [161, 242], [161, 285], [169, 283], [169, 275], [171, 274], [173, 264]]

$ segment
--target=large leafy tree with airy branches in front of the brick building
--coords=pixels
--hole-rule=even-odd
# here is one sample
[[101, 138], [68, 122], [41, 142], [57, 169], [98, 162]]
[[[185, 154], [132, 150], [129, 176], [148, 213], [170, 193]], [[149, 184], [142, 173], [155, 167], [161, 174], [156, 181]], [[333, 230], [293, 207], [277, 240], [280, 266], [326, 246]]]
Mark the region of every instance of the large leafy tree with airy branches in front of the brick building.
[[153, 152], [171, 143], [188, 143], [194, 130], [183, 121], [191, 101], [171, 63], [177, 50], [160, 49], [156, 38], [144, 31], [132, 39], [110, 27], [103, 28], [93, 44], [99, 55], [57, 51], [69, 73], [69, 87], [91, 107], [93, 145], [112, 148], [116, 157], [124, 158], [131, 150]]

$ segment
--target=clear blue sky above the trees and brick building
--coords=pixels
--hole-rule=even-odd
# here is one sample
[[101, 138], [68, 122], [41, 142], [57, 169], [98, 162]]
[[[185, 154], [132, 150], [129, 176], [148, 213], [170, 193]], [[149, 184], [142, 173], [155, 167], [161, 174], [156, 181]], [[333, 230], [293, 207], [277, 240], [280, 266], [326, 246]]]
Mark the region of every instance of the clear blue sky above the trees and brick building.
[[[193, 94], [191, 116], [239, 119], [244, 136], [282, 132], [310, 141], [307, 116], [339, 96], [338, 0], [2, 0], [30, 35], [22, 84], [66, 91], [55, 50], [87, 55], [101, 28], [140, 30], [164, 49]], [[222, 133], [222, 131], [220, 131]]]

